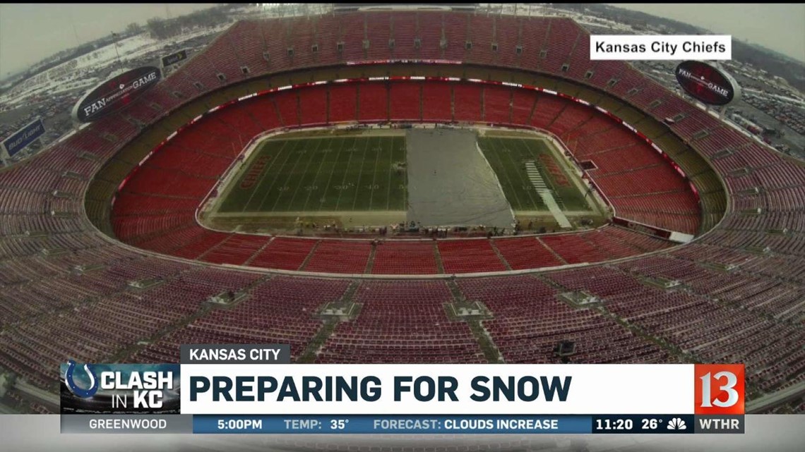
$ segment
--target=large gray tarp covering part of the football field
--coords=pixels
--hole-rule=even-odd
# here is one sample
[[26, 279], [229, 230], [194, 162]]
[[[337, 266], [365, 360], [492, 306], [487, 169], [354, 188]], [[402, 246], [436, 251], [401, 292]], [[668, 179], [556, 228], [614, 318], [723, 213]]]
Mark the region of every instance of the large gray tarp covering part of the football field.
[[411, 129], [406, 138], [409, 222], [511, 228], [509, 202], [475, 132]]

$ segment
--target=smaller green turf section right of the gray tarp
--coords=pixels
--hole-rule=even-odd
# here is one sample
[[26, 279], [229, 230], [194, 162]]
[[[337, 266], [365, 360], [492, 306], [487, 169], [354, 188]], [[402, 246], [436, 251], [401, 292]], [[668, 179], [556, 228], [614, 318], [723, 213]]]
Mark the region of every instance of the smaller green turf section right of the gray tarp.
[[[489, 165], [497, 174], [506, 199], [515, 211], [546, 211], [547, 207], [526, 174], [525, 162], [535, 166], [563, 211], [587, 211], [588, 203], [543, 140], [530, 138], [478, 138]], [[552, 172], [551, 172], [552, 170]]]

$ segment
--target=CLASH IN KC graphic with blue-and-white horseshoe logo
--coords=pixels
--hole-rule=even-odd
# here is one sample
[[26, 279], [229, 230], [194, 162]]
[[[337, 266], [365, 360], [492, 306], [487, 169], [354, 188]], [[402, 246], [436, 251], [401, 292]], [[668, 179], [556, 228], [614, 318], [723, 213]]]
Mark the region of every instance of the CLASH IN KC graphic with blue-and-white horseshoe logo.
[[179, 413], [179, 364], [62, 364], [61, 413]]

